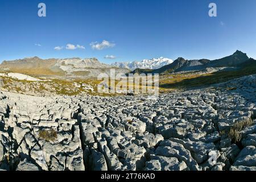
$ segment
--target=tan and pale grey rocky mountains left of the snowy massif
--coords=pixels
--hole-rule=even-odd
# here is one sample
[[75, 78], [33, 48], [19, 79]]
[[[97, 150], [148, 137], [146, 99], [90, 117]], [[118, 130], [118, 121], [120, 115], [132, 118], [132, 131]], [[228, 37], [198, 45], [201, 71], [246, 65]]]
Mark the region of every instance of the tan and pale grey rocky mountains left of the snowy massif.
[[[110, 73], [113, 66], [100, 63], [96, 58], [80, 59], [40, 59], [27, 57], [24, 59], [3, 61], [0, 69], [35, 76], [97, 77], [100, 73]], [[116, 73], [130, 72], [126, 68], [115, 68]]]

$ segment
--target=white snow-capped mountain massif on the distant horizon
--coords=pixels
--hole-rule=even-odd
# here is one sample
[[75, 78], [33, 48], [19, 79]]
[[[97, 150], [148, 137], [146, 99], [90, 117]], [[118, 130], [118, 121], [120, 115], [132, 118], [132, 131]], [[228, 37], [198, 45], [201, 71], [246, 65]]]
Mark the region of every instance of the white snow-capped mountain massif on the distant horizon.
[[168, 58], [159, 57], [157, 59], [144, 59], [142, 61], [133, 62], [115, 62], [112, 65], [119, 68], [127, 68], [134, 71], [137, 68], [141, 69], [158, 69], [165, 65], [171, 64], [174, 61]]

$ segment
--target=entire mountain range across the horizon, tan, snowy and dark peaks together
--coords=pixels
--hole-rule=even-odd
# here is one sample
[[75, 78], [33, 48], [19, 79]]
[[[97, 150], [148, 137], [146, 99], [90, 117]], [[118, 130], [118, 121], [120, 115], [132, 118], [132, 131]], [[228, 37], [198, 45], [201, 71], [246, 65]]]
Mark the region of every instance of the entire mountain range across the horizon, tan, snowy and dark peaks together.
[[[78, 57], [69, 59], [40, 59], [39, 57], [28, 57], [13, 61], [3, 61], [0, 69], [16, 73], [24, 73], [34, 76], [65, 76], [65, 77], [97, 77], [100, 73], [110, 73], [115, 68], [115, 73], [158, 73], [160, 75], [199, 71], [207, 68], [232, 68], [237, 69], [245, 65], [255, 64], [254, 59], [249, 59], [246, 53], [236, 51], [233, 55], [221, 59], [209, 60], [186, 60], [183, 57], [175, 61], [164, 57], [158, 59], [144, 59], [141, 62], [124, 62], [104, 64], [96, 58], [80, 59]], [[223, 69], [222, 69], [223, 70]]]

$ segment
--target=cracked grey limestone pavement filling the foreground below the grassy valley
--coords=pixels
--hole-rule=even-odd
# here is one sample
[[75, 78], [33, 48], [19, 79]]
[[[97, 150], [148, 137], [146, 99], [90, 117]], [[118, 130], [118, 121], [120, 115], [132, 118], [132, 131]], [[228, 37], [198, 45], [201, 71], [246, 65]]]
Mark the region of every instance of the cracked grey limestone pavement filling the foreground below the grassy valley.
[[[1, 92], [0, 169], [255, 170], [255, 80], [243, 77], [157, 100]], [[252, 124], [233, 142], [225, 133], [243, 121]], [[40, 135], [51, 130], [53, 140]]]

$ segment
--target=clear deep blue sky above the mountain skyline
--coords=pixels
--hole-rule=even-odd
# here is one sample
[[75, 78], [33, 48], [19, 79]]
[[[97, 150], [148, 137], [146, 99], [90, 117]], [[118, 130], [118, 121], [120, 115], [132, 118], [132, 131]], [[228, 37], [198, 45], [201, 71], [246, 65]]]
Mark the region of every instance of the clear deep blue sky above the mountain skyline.
[[[45, 18], [38, 17], [40, 2]], [[217, 17], [208, 16], [211, 2]], [[0, 62], [31, 56], [104, 63], [217, 59], [237, 49], [256, 58], [255, 0], [1, 0], [0, 22]]]

